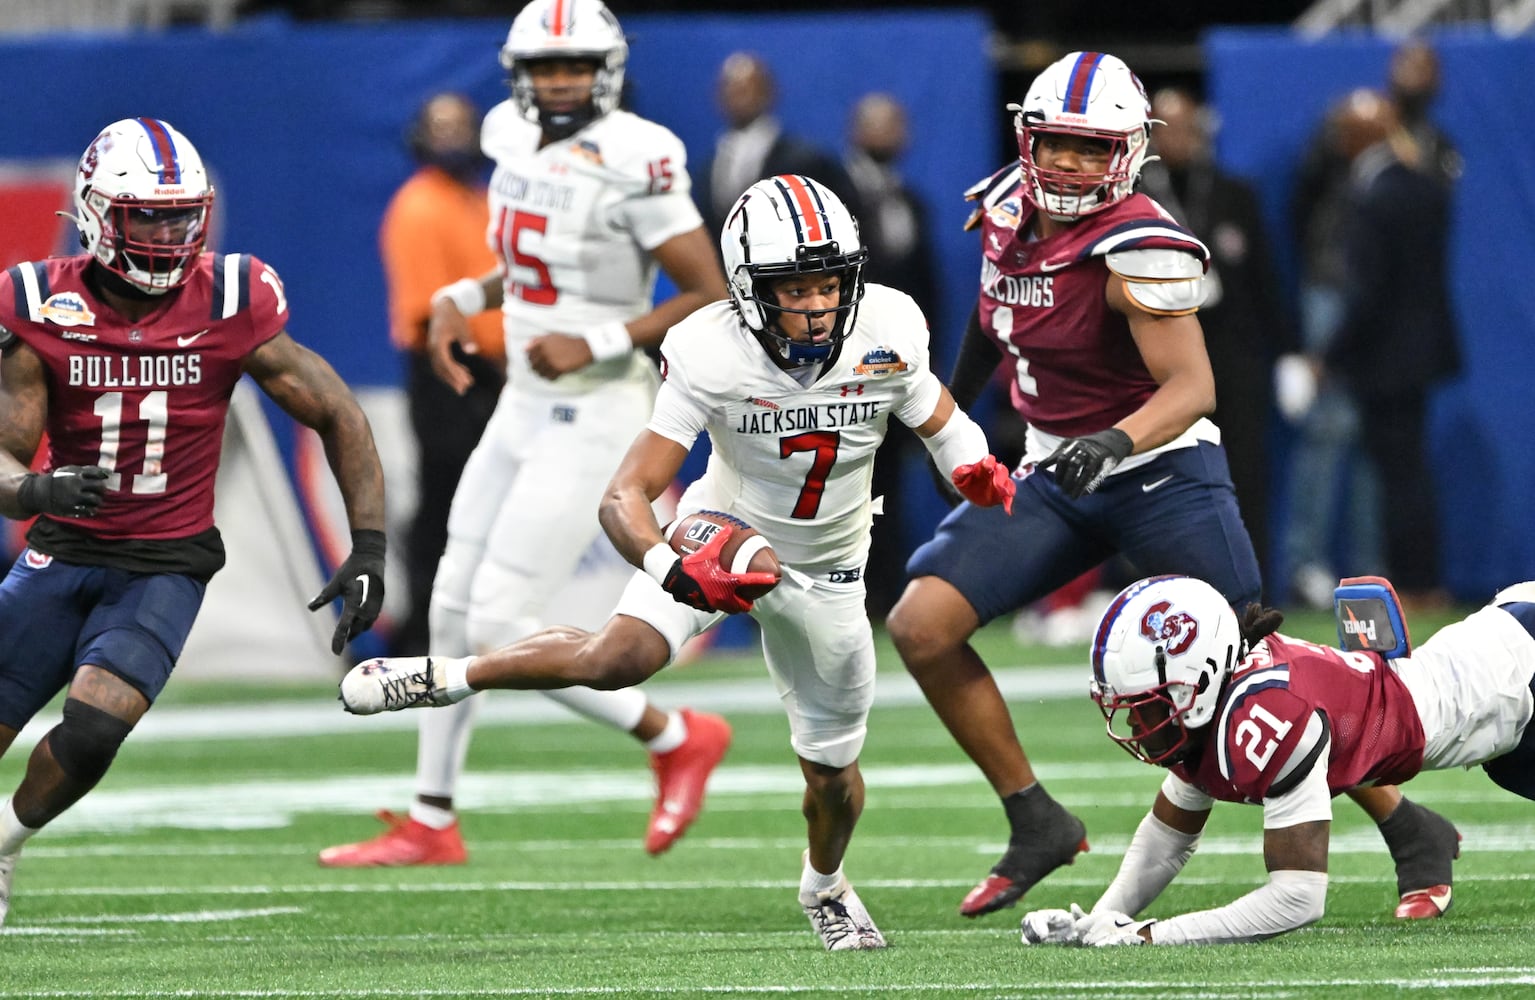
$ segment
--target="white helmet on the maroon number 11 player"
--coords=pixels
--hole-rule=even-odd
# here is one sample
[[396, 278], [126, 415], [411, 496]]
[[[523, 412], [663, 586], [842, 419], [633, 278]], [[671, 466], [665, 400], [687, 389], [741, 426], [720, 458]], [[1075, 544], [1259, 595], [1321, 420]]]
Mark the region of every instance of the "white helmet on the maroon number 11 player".
[[103, 267], [150, 295], [192, 275], [207, 243], [213, 187], [203, 157], [160, 118], [101, 129], [75, 169], [80, 244]]

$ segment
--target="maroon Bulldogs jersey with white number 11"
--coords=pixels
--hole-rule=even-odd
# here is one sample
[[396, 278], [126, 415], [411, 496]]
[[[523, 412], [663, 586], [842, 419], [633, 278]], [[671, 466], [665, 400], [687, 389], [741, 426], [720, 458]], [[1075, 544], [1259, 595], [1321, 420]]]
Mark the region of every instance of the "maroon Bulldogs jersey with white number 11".
[[213, 527], [229, 398], [246, 356], [282, 332], [276, 272], [246, 253], [204, 253], [137, 323], [84, 281], [89, 257], [0, 273], [0, 329], [48, 379], [48, 467], [112, 472], [106, 501], [68, 521], [100, 539], [178, 539]]

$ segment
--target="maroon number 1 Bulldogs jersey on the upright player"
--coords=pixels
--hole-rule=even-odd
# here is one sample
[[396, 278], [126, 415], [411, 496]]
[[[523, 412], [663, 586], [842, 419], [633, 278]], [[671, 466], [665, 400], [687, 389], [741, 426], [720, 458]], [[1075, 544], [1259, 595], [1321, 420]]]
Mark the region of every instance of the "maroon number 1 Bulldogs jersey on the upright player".
[[972, 189], [981, 198], [981, 329], [1012, 356], [1013, 409], [1050, 435], [1074, 438], [1111, 427], [1156, 392], [1125, 316], [1105, 298], [1117, 250], [1210, 252], [1156, 201], [1131, 195], [1062, 232], [1035, 240], [1038, 210], [1019, 169]]

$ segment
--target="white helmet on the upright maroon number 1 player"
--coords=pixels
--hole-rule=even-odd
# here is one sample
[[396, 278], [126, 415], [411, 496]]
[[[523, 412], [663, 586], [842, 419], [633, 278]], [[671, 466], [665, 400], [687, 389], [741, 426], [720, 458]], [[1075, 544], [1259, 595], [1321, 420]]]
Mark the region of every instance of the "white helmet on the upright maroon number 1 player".
[[[1151, 104], [1130, 66], [1105, 52], [1071, 52], [1045, 68], [1022, 104], [1008, 104], [1024, 166], [1024, 192], [1041, 212], [1073, 221], [1122, 201], [1134, 190], [1151, 135]], [[1108, 171], [1071, 174], [1035, 163], [1039, 132], [1105, 140]]]

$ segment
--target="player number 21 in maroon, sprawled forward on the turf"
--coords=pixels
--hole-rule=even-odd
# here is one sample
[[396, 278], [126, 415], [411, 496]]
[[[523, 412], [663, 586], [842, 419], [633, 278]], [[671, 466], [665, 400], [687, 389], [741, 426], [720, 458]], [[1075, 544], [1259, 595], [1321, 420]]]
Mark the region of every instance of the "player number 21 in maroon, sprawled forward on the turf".
[[[1395, 659], [1291, 639], [1280, 622], [1256, 604], [1239, 621], [1187, 576], [1114, 598], [1093, 641], [1093, 700], [1108, 736], [1168, 776], [1091, 912], [1030, 912], [1025, 943], [1249, 942], [1312, 923], [1326, 902], [1331, 799], [1363, 782], [1480, 763], [1535, 799], [1535, 582]], [[1225, 906], [1136, 920], [1193, 856], [1216, 802], [1263, 806], [1268, 882]], [[1449, 909], [1449, 885], [1421, 892]]]

